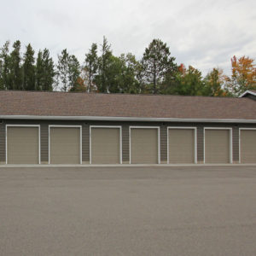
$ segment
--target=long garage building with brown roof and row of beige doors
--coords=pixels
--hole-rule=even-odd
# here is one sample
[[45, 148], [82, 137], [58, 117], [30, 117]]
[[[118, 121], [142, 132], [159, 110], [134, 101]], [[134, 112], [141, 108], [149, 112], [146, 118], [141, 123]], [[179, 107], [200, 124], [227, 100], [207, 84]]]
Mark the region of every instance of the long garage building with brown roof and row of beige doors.
[[256, 164], [241, 97], [0, 91], [0, 164]]

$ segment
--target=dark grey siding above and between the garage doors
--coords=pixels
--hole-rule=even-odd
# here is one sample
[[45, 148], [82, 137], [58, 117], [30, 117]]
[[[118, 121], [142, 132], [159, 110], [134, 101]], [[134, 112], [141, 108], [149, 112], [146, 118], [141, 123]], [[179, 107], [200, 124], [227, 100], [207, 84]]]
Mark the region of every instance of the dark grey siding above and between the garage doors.
[[159, 122], [106, 122], [106, 121], [49, 121], [49, 120], [12, 120], [6, 119], [0, 123], [0, 162], [5, 163], [5, 125], [40, 125], [41, 130], [41, 162], [49, 160], [49, 125], [82, 125], [82, 161], [90, 162], [90, 125], [121, 125], [122, 126], [122, 160], [130, 161], [130, 126], [159, 126], [160, 127], [160, 162], [167, 162], [167, 127], [193, 126], [197, 128], [197, 160], [204, 160], [204, 127], [232, 128], [233, 161], [239, 161], [239, 128], [256, 128], [256, 125], [247, 124], [212, 124], [212, 123], [159, 123]]

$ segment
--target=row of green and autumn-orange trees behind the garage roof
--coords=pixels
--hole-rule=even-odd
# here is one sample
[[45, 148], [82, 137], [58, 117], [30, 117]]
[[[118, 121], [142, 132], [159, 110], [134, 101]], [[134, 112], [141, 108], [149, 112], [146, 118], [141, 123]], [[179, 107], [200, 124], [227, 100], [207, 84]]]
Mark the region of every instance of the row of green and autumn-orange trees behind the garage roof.
[[190, 96], [237, 96], [256, 90], [254, 60], [242, 56], [231, 59], [231, 76], [218, 67], [202, 76], [195, 67], [177, 64], [169, 47], [154, 39], [137, 60], [131, 53], [113, 55], [107, 38], [92, 44], [79, 63], [67, 49], [54, 63], [49, 49], [35, 56], [32, 45], [20, 52], [20, 41], [7, 41], [0, 49], [1, 90], [63, 90], [104, 93], [149, 93]]

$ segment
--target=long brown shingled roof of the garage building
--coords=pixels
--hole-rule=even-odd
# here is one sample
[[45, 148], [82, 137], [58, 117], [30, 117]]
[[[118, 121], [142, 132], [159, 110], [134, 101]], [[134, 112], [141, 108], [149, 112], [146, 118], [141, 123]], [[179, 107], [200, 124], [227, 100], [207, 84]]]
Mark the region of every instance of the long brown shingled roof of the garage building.
[[256, 119], [248, 98], [0, 91], [0, 116]]

